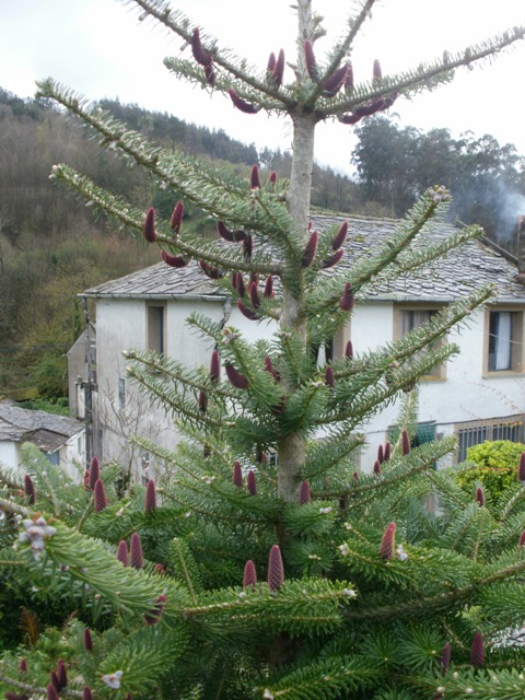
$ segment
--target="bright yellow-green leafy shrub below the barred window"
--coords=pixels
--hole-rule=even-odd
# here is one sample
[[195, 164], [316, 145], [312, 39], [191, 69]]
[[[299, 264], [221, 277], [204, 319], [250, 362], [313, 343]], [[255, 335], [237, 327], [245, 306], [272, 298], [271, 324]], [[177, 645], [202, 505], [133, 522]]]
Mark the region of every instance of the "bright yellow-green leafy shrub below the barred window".
[[498, 500], [501, 493], [517, 479], [522, 452], [525, 452], [525, 444], [522, 442], [486, 440], [467, 450], [467, 462], [474, 463], [476, 468], [459, 471], [456, 480], [468, 491], [480, 483], [493, 499]]

